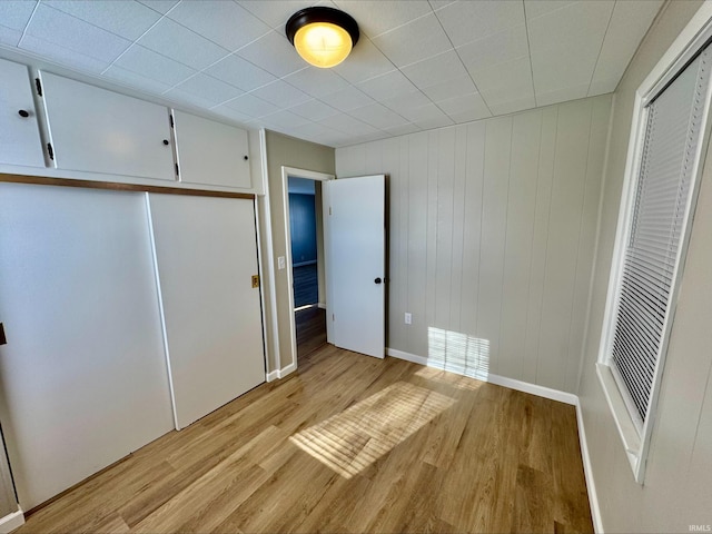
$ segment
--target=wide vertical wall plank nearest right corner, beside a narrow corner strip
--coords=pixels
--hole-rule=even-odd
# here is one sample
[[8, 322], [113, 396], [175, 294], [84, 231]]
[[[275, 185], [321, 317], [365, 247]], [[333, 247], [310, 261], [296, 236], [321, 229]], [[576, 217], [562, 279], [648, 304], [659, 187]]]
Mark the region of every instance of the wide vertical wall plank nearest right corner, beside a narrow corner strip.
[[[591, 103], [564, 103], [558, 112], [536, 376], [537, 384], [554, 389], [565, 387]], [[575, 353], [580, 353], [577, 347]]]

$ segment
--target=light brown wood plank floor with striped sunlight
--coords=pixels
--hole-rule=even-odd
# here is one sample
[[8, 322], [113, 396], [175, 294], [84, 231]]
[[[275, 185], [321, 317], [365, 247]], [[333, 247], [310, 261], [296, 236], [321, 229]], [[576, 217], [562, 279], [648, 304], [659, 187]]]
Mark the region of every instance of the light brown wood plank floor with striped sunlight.
[[327, 345], [24, 533], [593, 532], [572, 406]]

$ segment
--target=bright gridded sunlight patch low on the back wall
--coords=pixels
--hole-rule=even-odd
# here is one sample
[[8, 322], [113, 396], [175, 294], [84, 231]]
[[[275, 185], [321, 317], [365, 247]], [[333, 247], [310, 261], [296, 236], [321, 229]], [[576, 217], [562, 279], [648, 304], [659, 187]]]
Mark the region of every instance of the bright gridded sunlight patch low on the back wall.
[[490, 376], [490, 340], [429, 326], [427, 365], [486, 380]]

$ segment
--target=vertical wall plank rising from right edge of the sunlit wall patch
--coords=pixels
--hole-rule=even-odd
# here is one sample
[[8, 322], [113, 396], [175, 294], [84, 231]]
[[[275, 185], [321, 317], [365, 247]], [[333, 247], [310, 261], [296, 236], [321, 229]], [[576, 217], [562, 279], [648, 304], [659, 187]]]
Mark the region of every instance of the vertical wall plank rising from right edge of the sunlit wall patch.
[[488, 344], [490, 372], [497, 373], [504, 247], [507, 225], [512, 125], [505, 117], [487, 121], [479, 253], [476, 337]]

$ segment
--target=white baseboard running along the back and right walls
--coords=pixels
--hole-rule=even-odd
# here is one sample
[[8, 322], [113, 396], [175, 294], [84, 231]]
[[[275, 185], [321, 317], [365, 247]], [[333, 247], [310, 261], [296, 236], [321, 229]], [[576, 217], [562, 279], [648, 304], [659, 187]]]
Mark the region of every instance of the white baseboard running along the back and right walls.
[[[437, 365], [433, 362], [428, 362], [425, 356], [418, 356], [417, 354], [404, 353], [395, 348], [387, 348], [386, 354], [394, 358], [405, 359], [414, 364], [425, 365], [427, 367], [434, 367], [437, 369], [444, 369], [449, 373], [456, 373], [464, 376], [469, 376], [467, 373], [459, 372], [455, 368], [447, 368], [447, 366]], [[597, 534], [603, 534], [603, 522], [601, 521], [601, 508], [599, 506], [599, 495], [596, 493], [596, 486], [593, 481], [593, 467], [591, 465], [591, 456], [589, 456], [589, 445], [586, 442], [586, 433], [583, 426], [583, 416], [581, 414], [581, 404], [578, 397], [573, 393], [561, 392], [558, 389], [552, 389], [551, 387], [544, 387], [536, 384], [530, 384], [527, 382], [516, 380], [514, 378], [507, 378], [506, 376], [491, 375], [474, 376], [474, 378], [487, 382], [490, 384], [496, 384], [497, 386], [508, 387], [517, 392], [530, 393], [544, 398], [551, 398], [552, 400], [558, 400], [560, 403], [570, 404], [576, 407], [576, 424], [578, 426], [578, 441], [581, 444], [581, 456], [583, 459], [583, 471], [586, 477], [586, 490], [589, 492], [589, 504], [591, 505], [591, 516], [593, 518], [593, 528]]]

